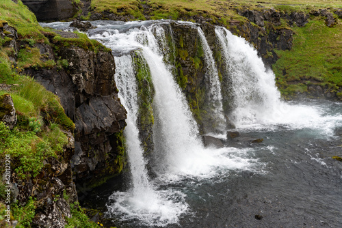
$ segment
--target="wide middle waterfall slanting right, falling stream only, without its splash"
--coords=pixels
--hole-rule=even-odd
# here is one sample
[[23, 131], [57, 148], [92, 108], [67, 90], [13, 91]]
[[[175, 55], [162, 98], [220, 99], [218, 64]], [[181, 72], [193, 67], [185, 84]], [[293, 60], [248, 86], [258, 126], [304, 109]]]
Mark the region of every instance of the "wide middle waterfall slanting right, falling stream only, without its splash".
[[[155, 87], [154, 112], [155, 126], [153, 129], [155, 147], [161, 160], [161, 169], [168, 172], [192, 171], [189, 165], [194, 165], [192, 159], [202, 150], [202, 141], [198, 138], [199, 131], [196, 121], [192, 117], [189, 105], [182, 94], [179, 85], [174, 81], [170, 67], [163, 61], [161, 47], [165, 36], [154, 35], [154, 25], [146, 35], [148, 45], [142, 47], [142, 55], [148, 63], [153, 85]], [[159, 29], [162, 29], [159, 27]], [[152, 41], [153, 40], [153, 41]], [[151, 42], [152, 41], [152, 42]], [[146, 43], [140, 40], [142, 43]]]

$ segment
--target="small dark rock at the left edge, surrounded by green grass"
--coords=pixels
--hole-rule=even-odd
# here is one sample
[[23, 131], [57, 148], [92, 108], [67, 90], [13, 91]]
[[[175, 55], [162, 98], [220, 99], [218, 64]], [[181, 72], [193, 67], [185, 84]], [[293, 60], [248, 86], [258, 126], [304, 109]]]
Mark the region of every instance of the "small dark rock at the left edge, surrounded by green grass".
[[16, 109], [10, 94], [0, 96], [0, 120], [5, 123], [10, 129], [16, 125]]

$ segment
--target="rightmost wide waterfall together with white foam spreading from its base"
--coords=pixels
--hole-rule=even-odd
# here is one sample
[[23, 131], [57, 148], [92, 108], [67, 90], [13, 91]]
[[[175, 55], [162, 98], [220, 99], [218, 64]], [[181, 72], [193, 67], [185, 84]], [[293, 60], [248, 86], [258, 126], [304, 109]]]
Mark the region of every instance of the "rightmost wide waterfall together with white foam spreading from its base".
[[[318, 106], [289, 104], [280, 100], [272, 70], [267, 70], [257, 51], [244, 38], [223, 27], [215, 28], [233, 91], [231, 118], [238, 128], [316, 128], [332, 133]], [[339, 119], [339, 117], [333, 117]], [[331, 124], [330, 124], [331, 125]], [[328, 131], [328, 132], [327, 132]]]

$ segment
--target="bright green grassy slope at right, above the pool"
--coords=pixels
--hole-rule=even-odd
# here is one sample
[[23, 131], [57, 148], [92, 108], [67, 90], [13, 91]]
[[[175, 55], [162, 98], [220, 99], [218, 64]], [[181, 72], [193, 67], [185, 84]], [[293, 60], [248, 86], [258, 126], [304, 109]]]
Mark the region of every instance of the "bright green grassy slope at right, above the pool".
[[[297, 83], [331, 83], [342, 87], [341, 20], [329, 28], [324, 20], [313, 17], [305, 27], [292, 29], [295, 35], [291, 51], [276, 50], [280, 59], [273, 70], [280, 89]], [[291, 87], [286, 92], [295, 91]]]

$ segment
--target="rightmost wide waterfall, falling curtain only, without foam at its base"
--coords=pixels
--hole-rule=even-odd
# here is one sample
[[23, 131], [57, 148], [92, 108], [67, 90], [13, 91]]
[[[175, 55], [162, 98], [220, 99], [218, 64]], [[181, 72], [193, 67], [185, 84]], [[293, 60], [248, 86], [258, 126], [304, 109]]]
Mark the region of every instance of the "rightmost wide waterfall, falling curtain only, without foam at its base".
[[266, 70], [257, 51], [244, 40], [223, 27], [215, 28], [226, 63], [226, 73], [233, 96], [231, 117], [237, 124], [263, 121], [274, 115], [280, 105], [280, 93], [274, 74]]

